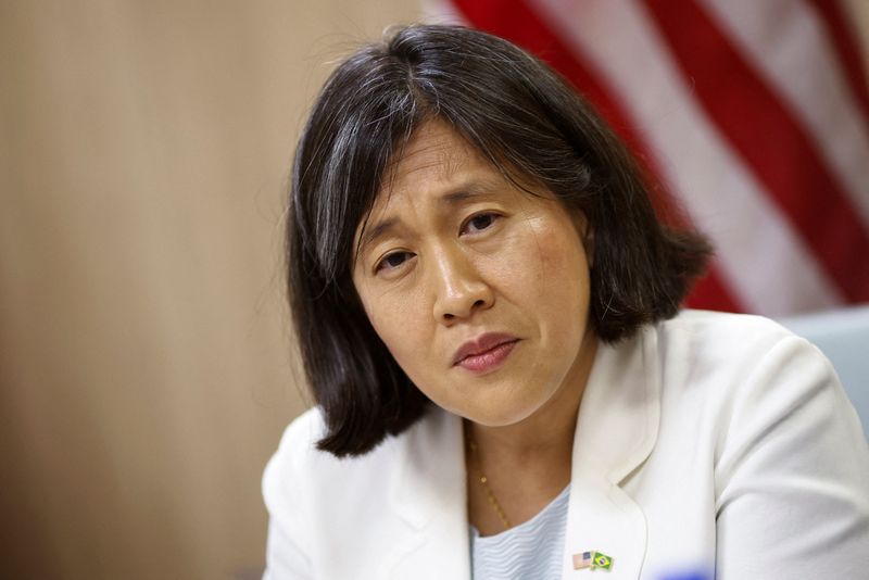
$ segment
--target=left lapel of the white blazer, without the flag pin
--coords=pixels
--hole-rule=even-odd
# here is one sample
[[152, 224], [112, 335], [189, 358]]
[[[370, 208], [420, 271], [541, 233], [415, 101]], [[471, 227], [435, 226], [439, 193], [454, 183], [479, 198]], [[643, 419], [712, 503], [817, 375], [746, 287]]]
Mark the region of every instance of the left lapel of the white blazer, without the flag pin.
[[390, 499], [407, 526], [378, 578], [470, 579], [462, 420], [439, 408], [408, 433]]

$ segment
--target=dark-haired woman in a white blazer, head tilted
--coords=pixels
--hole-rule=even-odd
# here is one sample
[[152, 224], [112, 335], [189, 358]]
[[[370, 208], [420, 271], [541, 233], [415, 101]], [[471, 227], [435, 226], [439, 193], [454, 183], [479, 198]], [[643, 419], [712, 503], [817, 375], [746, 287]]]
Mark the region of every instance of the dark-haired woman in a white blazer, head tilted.
[[545, 65], [413, 26], [300, 140], [317, 402], [264, 477], [267, 578], [862, 578], [869, 453], [823, 356], [678, 312], [705, 240]]

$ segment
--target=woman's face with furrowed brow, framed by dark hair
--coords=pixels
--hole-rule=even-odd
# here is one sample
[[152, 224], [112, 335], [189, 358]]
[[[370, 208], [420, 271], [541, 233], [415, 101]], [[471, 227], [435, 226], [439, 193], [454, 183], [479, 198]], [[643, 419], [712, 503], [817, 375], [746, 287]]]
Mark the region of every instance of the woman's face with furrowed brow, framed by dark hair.
[[545, 189], [518, 191], [437, 121], [391, 172], [358, 228], [353, 281], [411, 380], [487, 426], [581, 389], [595, 341], [584, 219]]

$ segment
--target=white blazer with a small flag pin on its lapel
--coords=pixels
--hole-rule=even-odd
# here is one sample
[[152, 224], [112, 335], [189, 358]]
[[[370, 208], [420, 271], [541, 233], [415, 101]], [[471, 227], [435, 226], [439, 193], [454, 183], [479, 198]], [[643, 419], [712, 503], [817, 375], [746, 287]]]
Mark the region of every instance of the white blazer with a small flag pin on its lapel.
[[[461, 419], [318, 452], [316, 409], [263, 479], [269, 580], [470, 577]], [[575, 570], [600, 551], [610, 570]], [[869, 578], [869, 447], [829, 362], [755, 316], [684, 312], [601, 344], [582, 399], [562, 578]]]

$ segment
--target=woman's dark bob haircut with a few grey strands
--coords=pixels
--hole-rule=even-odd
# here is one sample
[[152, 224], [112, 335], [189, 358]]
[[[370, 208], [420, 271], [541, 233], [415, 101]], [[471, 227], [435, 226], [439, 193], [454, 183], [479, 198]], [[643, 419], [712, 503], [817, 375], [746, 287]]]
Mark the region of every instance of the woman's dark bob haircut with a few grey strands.
[[375, 332], [352, 281], [356, 228], [393, 156], [423, 123], [448, 123], [517, 187], [542, 185], [593, 231], [590, 320], [604, 341], [673, 316], [709, 245], [656, 217], [638, 164], [549, 66], [492, 35], [410, 26], [329, 77], [299, 141], [287, 222], [291, 314], [327, 433], [361, 455], [429, 401]]

